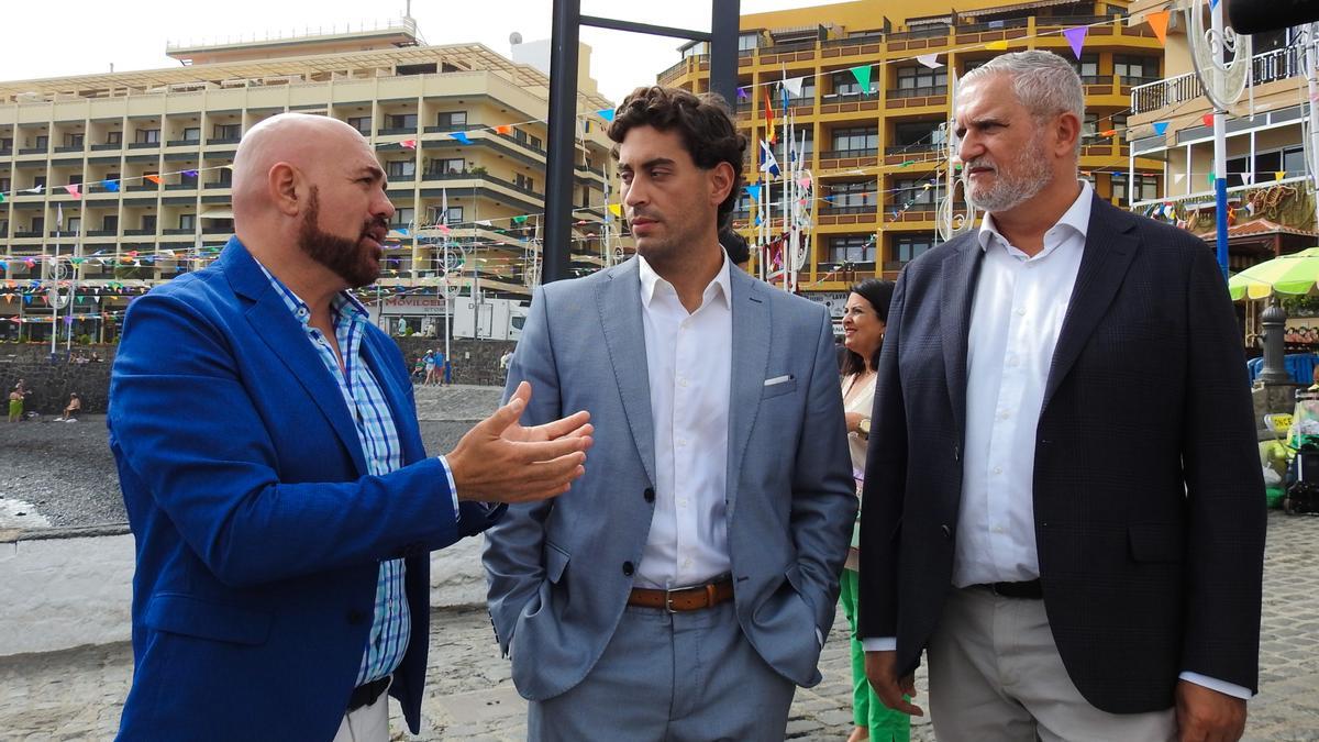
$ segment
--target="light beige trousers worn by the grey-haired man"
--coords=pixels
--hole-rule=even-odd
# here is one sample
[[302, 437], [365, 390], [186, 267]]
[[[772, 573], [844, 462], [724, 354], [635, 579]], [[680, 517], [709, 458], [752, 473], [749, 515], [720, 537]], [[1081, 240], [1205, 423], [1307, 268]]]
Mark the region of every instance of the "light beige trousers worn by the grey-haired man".
[[1086, 701], [1058, 655], [1043, 601], [952, 590], [929, 659], [939, 742], [1177, 738], [1171, 708], [1111, 714]]

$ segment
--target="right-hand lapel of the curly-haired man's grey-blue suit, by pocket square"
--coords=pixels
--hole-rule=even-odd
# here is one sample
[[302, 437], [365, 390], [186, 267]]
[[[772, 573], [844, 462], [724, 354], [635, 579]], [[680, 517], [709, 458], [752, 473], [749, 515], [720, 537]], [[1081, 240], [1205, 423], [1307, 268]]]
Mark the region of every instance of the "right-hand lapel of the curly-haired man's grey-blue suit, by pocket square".
[[[769, 375], [769, 345], [773, 342], [772, 316], [764, 285], [739, 269], [729, 269], [733, 310], [732, 378], [728, 404], [728, 473], [725, 477], [727, 518], [731, 520], [737, 502], [739, 473], [751, 430], [760, 412], [760, 395]], [[810, 349], [802, 349], [810, 353]], [[805, 383], [805, 379], [801, 382]]]

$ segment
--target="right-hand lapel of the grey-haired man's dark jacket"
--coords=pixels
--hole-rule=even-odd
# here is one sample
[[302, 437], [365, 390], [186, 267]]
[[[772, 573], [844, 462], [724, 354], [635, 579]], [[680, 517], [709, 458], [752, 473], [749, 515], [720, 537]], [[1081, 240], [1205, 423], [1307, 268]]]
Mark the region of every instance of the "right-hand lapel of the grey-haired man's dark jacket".
[[1086, 250], [1076, 272], [1076, 285], [1067, 305], [1054, 359], [1049, 366], [1043, 407], [1049, 407], [1058, 384], [1071, 371], [1095, 325], [1099, 323], [1126, 276], [1140, 242], [1132, 232], [1136, 220], [1125, 211], [1096, 197], [1091, 203]]

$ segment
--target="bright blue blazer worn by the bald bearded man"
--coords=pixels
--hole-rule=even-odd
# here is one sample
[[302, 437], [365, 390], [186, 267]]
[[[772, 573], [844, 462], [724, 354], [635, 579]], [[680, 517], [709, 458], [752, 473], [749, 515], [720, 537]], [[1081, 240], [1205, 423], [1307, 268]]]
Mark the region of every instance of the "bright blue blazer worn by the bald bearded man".
[[356, 683], [381, 560], [406, 557], [408, 654], [390, 694], [419, 724], [427, 552], [501, 511], [427, 457], [397, 346], [361, 355], [405, 466], [367, 475], [334, 376], [237, 238], [132, 304], [109, 444], [137, 548], [133, 687], [120, 739], [331, 739]]

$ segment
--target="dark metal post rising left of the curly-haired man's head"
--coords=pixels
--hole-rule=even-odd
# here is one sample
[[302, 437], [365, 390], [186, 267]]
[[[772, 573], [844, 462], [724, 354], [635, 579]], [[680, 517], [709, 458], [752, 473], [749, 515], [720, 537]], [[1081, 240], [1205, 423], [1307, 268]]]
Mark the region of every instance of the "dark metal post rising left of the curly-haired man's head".
[[582, 1], [554, 0], [550, 36], [550, 123], [545, 164], [542, 283], [570, 277], [572, 251], [572, 161], [576, 157], [578, 36]]

